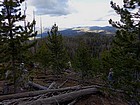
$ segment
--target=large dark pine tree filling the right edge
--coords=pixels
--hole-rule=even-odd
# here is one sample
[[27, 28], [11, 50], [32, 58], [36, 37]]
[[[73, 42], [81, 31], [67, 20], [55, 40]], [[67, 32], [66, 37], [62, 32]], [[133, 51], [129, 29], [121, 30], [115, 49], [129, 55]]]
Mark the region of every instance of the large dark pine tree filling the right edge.
[[115, 39], [109, 59], [114, 69], [115, 88], [128, 93], [129, 100], [138, 103], [140, 73], [140, 1], [123, 0], [123, 7], [111, 1], [111, 7], [120, 16], [120, 21], [109, 20], [116, 27]]

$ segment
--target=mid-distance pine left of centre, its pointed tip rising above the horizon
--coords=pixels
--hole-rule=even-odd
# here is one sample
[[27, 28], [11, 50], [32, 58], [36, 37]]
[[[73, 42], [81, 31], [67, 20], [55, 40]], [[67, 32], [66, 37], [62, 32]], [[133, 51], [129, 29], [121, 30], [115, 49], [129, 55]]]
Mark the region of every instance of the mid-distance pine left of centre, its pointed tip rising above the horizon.
[[55, 74], [62, 73], [68, 63], [68, 56], [63, 44], [63, 37], [58, 32], [58, 26], [56, 24], [48, 32], [47, 48], [49, 53], [49, 66]]

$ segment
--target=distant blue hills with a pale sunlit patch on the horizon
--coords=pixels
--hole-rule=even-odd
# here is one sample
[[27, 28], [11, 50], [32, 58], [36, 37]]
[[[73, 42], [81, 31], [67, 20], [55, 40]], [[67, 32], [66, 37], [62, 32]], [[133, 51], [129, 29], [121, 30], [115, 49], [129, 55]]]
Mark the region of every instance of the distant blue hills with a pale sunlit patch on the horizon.
[[[59, 31], [63, 36], [76, 36], [76, 35], [83, 35], [87, 32], [90, 33], [99, 33], [99, 34], [108, 34], [112, 35], [116, 32], [116, 29], [111, 26], [99, 27], [99, 26], [87, 26], [87, 27], [74, 27], [68, 28]], [[47, 31], [44, 31], [42, 34], [38, 34], [37, 37], [46, 37]]]

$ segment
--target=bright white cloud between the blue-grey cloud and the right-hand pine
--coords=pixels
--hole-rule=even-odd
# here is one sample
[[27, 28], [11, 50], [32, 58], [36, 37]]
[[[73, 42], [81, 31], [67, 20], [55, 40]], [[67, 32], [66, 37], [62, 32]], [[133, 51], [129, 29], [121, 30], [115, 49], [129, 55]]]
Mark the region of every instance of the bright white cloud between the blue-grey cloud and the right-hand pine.
[[[110, 10], [109, 2], [74, 2], [73, 6], [78, 11], [76, 14], [70, 15], [76, 23], [87, 24], [87, 25], [107, 25], [108, 19], [104, 19], [108, 15]], [[98, 20], [102, 18], [102, 22], [95, 22], [93, 20]]]

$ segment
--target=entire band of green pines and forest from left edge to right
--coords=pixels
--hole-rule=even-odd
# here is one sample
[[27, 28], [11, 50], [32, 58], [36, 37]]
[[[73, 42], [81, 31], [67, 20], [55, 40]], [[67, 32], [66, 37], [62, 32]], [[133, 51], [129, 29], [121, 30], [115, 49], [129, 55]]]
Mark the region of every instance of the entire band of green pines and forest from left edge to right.
[[124, 0], [122, 7], [111, 1], [120, 16], [120, 21], [109, 20], [117, 28], [115, 36], [86, 33], [63, 37], [54, 25], [47, 38], [32, 41], [29, 39], [37, 34], [35, 20], [25, 22], [26, 15], [20, 9], [23, 2], [0, 2], [0, 78], [13, 84], [14, 92], [24, 86], [24, 80], [36, 75], [36, 64], [42, 67], [40, 70], [57, 75], [72, 69], [83, 80], [97, 75], [107, 80], [109, 69], [113, 68], [111, 88], [122, 90], [129, 103], [140, 103], [139, 0]]

